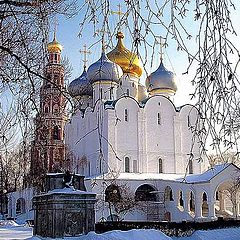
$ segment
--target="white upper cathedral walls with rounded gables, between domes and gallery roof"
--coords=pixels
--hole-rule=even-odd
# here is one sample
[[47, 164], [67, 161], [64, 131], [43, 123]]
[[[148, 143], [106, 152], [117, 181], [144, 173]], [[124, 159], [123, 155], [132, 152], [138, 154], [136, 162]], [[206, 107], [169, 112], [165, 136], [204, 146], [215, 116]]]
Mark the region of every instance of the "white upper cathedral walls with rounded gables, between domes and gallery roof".
[[[161, 158], [163, 173], [179, 174], [186, 172], [192, 152], [193, 173], [200, 173], [204, 168], [197, 161], [198, 139], [192, 147], [190, 129], [197, 114], [191, 105], [177, 111], [168, 98], [159, 95], [142, 106], [132, 97], [122, 97], [111, 106], [97, 101], [93, 109], [73, 115], [66, 126], [66, 144], [74, 156], [72, 170], [86, 176], [103, 169], [124, 172], [128, 157], [130, 172], [158, 173]], [[83, 166], [83, 156], [90, 166]]]

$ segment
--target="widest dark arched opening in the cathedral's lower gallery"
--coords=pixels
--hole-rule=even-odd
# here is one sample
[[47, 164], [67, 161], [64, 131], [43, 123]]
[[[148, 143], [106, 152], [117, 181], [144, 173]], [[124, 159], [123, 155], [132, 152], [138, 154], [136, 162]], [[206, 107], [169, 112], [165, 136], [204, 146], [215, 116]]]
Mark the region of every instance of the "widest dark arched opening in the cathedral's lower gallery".
[[148, 185], [144, 184], [138, 187], [135, 193], [136, 201], [148, 201], [148, 202], [156, 202], [158, 199], [156, 190]]

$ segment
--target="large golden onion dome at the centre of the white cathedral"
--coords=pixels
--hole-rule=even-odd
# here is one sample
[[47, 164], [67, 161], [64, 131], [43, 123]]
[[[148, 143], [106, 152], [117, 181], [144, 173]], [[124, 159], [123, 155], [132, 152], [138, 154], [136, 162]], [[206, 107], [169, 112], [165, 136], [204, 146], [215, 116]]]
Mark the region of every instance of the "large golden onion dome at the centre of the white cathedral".
[[115, 62], [122, 68], [123, 73], [129, 73], [139, 78], [143, 72], [141, 61], [137, 54], [125, 48], [123, 45], [123, 38], [123, 33], [118, 32], [117, 46], [109, 52], [107, 56], [111, 61]]

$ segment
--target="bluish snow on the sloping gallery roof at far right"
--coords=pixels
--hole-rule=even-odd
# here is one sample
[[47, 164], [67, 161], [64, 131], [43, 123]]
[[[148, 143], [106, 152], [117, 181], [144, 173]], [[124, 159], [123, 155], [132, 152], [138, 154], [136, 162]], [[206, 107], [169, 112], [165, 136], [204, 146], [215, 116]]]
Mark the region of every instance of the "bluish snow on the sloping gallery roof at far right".
[[231, 165], [231, 163], [215, 165], [213, 168], [208, 169], [204, 173], [187, 175], [185, 178], [180, 178], [177, 180], [183, 181], [186, 183], [208, 182], [230, 165]]

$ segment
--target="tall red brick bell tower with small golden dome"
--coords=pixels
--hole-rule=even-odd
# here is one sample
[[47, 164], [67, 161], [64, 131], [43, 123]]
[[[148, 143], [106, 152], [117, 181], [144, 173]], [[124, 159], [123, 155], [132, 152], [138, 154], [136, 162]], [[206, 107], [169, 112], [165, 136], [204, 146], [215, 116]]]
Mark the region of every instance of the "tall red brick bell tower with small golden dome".
[[64, 67], [61, 64], [62, 46], [56, 35], [47, 46], [49, 60], [40, 89], [40, 109], [35, 122], [35, 139], [31, 151], [31, 179], [38, 184], [46, 173], [66, 171], [64, 124], [66, 122], [63, 95]]

